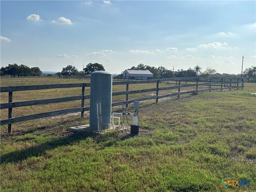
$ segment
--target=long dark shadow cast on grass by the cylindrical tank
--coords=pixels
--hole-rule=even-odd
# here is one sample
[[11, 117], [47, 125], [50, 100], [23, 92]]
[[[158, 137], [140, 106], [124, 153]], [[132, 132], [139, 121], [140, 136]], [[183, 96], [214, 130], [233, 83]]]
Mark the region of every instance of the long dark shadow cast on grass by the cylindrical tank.
[[1, 165], [4, 163], [10, 163], [10, 162], [19, 162], [24, 159], [27, 159], [32, 156], [40, 156], [44, 154], [46, 150], [52, 150], [54, 148], [60, 147], [60, 146], [67, 146], [71, 145], [73, 142], [77, 142], [83, 139], [86, 139], [87, 137], [95, 137], [95, 134], [92, 133], [86, 133], [86, 134], [78, 134], [74, 133], [67, 137], [63, 137], [60, 139], [55, 139], [52, 141], [44, 142], [40, 145], [29, 147], [26, 149], [21, 149], [18, 151], [13, 151], [8, 154], [4, 154], [1, 156]]

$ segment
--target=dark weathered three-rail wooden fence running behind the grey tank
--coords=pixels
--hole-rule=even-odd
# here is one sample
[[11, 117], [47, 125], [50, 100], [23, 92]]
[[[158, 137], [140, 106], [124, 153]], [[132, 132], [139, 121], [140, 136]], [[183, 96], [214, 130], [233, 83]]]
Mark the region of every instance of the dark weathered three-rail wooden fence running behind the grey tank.
[[[175, 82], [175, 83], [174, 83]], [[183, 82], [183, 84], [182, 84]], [[190, 84], [187, 84], [190, 82]], [[130, 90], [130, 84], [140, 84], [140, 83], [156, 83], [155, 88], [151, 89], [142, 89], [142, 90]], [[159, 87], [159, 84], [164, 83], [167, 85], [175, 84], [174, 86], [167, 86], [167, 87]], [[239, 83], [241, 85], [239, 85]], [[198, 77], [180, 77], [180, 78], [165, 78], [165, 79], [150, 79], [150, 80], [141, 80], [141, 81], [113, 81], [113, 85], [126, 85], [125, 91], [113, 92], [113, 96], [116, 95], [126, 95], [125, 101], [119, 101], [112, 103], [112, 107], [115, 106], [122, 106], [127, 105], [129, 103], [133, 103], [134, 101], [146, 101], [146, 100], [155, 100], [156, 103], [158, 99], [172, 97], [177, 95], [179, 98], [181, 94], [197, 94], [198, 92], [211, 92], [212, 90], [220, 90], [223, 89], [238, 89], [241, 87], [244, 88], [243, 79], [226, 79], [226, 78], [198, 78]], [[183, 87], [195, 87], [193, 91], [184, 91], [180, 92], [180, 89]], [[199, 90], [199, 86], [207, 86], [207, 89]], [[219, 86], [217, 88], [212, 88], [213, 86]], [[59, 89], [59, 88], [70, 88], [70, 87], [81, 87], [81, 95], [71, 96], [71, 97], [62, 97], [62, 98], [52, 98], [52, 99], [39, 99], [39, 100], [31, 100], [31, 101], [17, 101], [13, 102], [13, 92], [17, 91], [29, 91], [29, 90], [44, 90], [44, 89]], [[44, 118], [44, 117], [51, 117], [69, 113], [77, 113], [81, 112], [81, 117], [84, 116], [84, 111], [90, 110], [90, 107], [84, 107], [84, 100], [90, 99], [90, 95], [85, 95], [85, 87], [90, 87], [90, 83], [72, 83], [72, 84], [46, 84], [46, 85], [25, 85], [25, 86], [8, 86], [8, 87], [1, 87], [0, 92], [8, 92], [9, 93], [9, 102], [1, 103], [0, 109], [8, 109], [8, 118], [1, 119], [0, 124], [6, 125], [8, 124], [8, 132], [12, 132], [12, 124], [17, 122], [28, 121], [31, 119], [37, 118]], [[163, 90], [173, 90], [177, 89], [177, 92], [159, 95], [159, 91]], [[156, 94], [150, 97], [143, 97], [137, 99], [129, 100], [129, 94], [134, 93], [145, 93], [145, 92], [155, 92]], [[15, 107], [25, 107], [25, 106], [34, 106], [34, 105], [42, 105], [42, 104], [49, 104], [49, 103], [57, 103], [57, 102], [65, 102], [65, 101], [75, 101], [81, 100], [81, 107], [78, 108], [71, 108], [71, 109], [63, 109], [57, 111], [50, 111], [41, 114], [34, 114], [34, 115], [26, 115], [20, 117], [12, 117], [12, 109]]]

